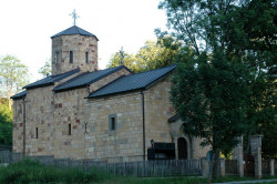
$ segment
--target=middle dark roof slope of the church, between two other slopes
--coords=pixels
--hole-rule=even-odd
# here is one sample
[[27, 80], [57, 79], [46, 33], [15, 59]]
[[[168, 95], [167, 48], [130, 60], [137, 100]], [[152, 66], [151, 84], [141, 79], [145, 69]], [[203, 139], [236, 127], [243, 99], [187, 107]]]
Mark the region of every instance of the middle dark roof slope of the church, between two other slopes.
[[94, 72], [85, 72], [82, 73], [53, 89], [53, 91], [59, 92], [59, 91], [65, 91], [65, 90], [71, 90], [71, 89], [76, 89], [81, 86], [85, 86], [88, 84], [91, 84], [93, 82], [96, 82], [121, 69], [126, 69], [131, 73], [133, 73], [130, 69], [127, 69], [125, 65], [112, 68], [112, 69], [105, 69], [105, 70], [99, 70]]

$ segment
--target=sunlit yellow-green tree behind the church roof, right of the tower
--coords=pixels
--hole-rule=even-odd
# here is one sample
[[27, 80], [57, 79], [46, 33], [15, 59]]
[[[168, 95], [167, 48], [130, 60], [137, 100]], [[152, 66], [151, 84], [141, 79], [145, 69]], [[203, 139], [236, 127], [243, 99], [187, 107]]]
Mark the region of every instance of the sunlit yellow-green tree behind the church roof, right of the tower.
[[175, 63], [181, 49], [175, 39], [160, 34], [157, 41], [146, 41], [135, 55], [120, 50], [111, 58], [107, 68], [124, 64], [134, 72], [143, 72], [167, 67]]

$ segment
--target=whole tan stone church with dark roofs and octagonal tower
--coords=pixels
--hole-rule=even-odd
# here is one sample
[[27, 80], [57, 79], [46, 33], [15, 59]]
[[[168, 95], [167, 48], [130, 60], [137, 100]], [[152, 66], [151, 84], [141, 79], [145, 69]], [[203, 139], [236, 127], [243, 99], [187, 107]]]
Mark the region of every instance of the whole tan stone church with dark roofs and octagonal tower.
[[[13, 95], [16, 153], [105, 162], [198, 159], [208, 147], [182, 133], [170, 102], [175, 65], [133, 73], [98, 69], [98, 37], [73, 25], [52, 39], [52, 75]], [[160, 146], [155, 146], [160, 145]], [[171, 145], [171, 146], [166, 146]]]

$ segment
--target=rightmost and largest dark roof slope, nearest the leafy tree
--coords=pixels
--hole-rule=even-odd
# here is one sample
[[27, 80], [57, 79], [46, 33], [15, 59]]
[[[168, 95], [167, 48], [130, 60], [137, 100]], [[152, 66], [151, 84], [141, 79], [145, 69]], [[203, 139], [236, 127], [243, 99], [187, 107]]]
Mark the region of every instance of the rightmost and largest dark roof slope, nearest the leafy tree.
[[171, 65], [167, 68], [122, 76], [109, 83], [107, 85], [99, 89], [98, 91], [91, 93], [88, 98], [99, 98], [109, 94], [145, 89], [151, 83], [168, 74], [171, 71], [175, 69], [175, 67], [176, 65]]

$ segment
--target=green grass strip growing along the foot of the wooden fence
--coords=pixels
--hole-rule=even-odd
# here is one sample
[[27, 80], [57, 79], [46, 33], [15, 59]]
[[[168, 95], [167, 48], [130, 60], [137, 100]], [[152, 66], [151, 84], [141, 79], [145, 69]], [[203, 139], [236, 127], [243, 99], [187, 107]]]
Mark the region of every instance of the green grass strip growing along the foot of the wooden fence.
[[[277, 176], [266, 176], [265, 178], [277, 178]], [[252, 181], [254, 177], [225, 176], [213, 180], [214, 183]], [[58, 168], [45, 166], [35, 161], [24, 160], [12, 163], [8, 166], [0, 166], [0, 183], [30, 183], [30, 184], [204, 184], [206, 178], [186, 177], [123, 177], [106, 174], [100, 170], [88, 172], [80, 168]]]

